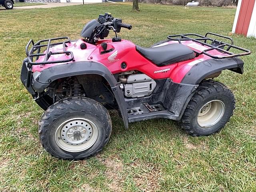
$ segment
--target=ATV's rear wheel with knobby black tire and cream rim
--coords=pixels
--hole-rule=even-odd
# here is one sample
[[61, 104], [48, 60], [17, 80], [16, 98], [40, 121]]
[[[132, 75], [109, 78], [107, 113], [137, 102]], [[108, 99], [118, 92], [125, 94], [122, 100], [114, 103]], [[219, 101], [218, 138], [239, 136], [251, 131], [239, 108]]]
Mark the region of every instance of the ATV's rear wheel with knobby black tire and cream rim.
[[181, 118], [180, 126], [192, 136], [219, 132], [233, 115], [234, 94], [222, 83], [204, 80]]

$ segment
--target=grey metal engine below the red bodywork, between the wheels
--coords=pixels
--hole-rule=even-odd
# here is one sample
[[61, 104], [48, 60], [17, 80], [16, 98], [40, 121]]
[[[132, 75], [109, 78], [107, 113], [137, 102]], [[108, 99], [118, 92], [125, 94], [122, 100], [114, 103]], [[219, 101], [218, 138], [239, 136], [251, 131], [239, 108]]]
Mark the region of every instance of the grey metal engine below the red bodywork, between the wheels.
[[152, 78], [146, 74], [136, 74], [134, 71], [121, 73], [118, 80], [126, 97], [149, 96], [156, 88], [156, 82]]

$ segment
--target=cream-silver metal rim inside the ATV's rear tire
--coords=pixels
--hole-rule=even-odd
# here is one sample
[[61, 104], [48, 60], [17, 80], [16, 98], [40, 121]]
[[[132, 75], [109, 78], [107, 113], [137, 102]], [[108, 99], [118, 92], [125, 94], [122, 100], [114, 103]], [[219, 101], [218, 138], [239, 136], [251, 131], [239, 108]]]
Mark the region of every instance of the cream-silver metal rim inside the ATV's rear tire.
[[225, 105], [220, 100], [212, 100], [199, 110], [197, 123], [203, 128], [208, 128], [217, 124], [223, 117]]

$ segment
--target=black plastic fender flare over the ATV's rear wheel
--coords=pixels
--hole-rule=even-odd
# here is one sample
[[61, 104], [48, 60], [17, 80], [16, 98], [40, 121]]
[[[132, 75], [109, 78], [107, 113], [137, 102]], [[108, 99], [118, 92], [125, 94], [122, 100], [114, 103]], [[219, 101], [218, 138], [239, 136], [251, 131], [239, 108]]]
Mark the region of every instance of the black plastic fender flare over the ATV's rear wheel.
[[209, 75], [226, 69], [243, 74], [244, 62], [238, 57], [205, 60], [195, 64], [184, 76], [181, 83], [199, 84]]

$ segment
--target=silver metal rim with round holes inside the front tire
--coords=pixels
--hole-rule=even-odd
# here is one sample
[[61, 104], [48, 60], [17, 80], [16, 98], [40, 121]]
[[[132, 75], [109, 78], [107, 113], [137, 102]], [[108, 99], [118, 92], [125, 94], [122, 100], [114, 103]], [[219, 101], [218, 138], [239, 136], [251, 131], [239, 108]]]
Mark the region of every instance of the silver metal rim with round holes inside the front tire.
[[58, 146], [68, 152], [81, 152], [90, 148], [98, 138], [98, 128], [86, 118], [66, 120], [55, 131]]

